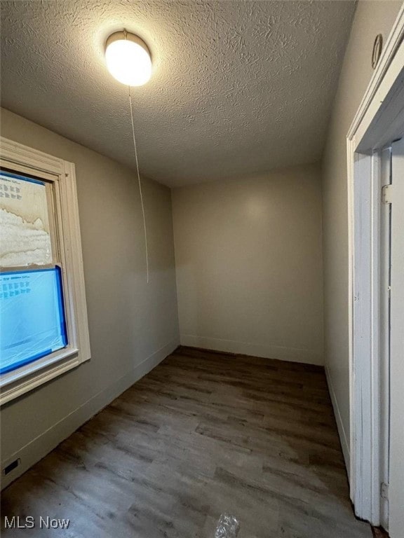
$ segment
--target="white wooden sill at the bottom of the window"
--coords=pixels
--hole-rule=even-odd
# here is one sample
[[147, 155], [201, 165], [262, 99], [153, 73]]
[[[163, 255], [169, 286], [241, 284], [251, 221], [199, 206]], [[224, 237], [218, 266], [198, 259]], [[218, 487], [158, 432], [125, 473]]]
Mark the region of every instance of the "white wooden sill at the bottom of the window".
[[0, 384], [0, 406], [76, 368], [81, 362], [79, 350], [68, 348], [20, 368], [20, 371], [3, 375]]

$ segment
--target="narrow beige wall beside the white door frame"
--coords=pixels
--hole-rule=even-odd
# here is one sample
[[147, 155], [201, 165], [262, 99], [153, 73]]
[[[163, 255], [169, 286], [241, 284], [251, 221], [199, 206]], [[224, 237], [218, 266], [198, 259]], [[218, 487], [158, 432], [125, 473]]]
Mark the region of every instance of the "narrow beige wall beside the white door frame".
[[398, 1], [359, 1], [323, 156], [323, 263], [325, 365], [349, 469], [348, 204], [346, 134], [372, 76], [377, 34], [384, 41], [401, 6]]

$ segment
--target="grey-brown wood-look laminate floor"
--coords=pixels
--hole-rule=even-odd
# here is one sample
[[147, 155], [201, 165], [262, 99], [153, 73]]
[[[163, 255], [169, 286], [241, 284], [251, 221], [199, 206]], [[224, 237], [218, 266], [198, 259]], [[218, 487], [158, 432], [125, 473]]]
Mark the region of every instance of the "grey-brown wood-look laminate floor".
[[[354, 518], [323, 368], [181, 347], [2, 496], [4, 537], [370, 538]], [[69, 518], [67, 530], [38, 527]]]

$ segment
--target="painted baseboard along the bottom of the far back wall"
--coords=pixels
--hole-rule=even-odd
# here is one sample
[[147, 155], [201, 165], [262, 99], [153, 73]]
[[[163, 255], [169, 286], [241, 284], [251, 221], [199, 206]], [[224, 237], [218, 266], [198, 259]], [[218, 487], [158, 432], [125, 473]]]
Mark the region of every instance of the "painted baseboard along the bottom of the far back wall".
[[182, 334], [182, 345], [191, 347], [203, 347], [207, 350], [225, 351], [265, 359], [278, 359], [281, 361], [303, 362], [305, 364], [317, 364], [323, 366], [323, 354], [314, 350], [302, 350], [297, 347], [282, 347], [279, 345], [260, 345], [253, 343], [238, 342], [236, 340], [222, 340], [221, 338], [208, 338]]

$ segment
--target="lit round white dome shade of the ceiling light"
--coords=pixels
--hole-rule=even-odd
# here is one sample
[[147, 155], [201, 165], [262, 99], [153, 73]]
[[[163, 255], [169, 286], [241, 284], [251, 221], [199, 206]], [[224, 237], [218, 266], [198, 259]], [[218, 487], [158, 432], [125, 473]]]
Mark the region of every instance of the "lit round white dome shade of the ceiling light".
[[115, 32], [105, 44], [109, 73], [127, 86], [141, 86], [152, 76], [152, 58], [146, 43], [130, 32]]

